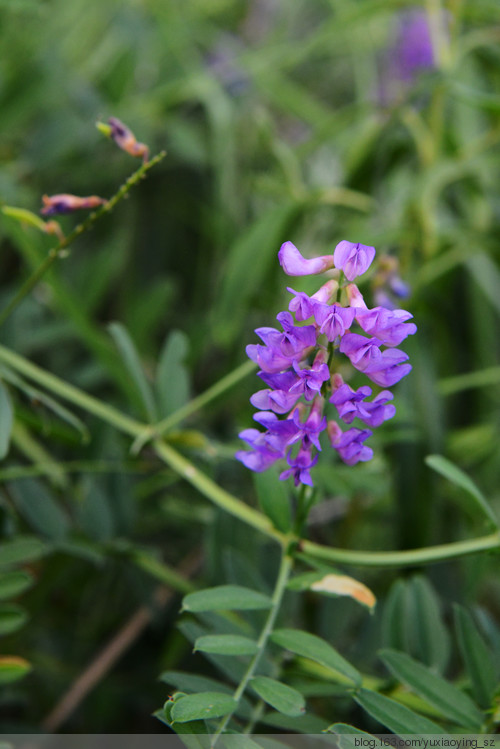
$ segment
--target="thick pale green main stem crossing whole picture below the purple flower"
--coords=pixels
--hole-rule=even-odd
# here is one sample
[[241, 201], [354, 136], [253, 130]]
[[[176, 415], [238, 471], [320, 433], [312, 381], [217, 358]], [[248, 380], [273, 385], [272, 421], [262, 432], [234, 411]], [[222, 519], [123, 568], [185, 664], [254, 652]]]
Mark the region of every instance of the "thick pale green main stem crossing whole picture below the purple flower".
[[[79, 388], [61, 380], [4, 346], [0, 346], [0, 362], [72, 403], [74, 406], [97, 416], [111, 426], [114, 426], [120, 432], [129, 435], [134, 440], [140, 440], [148, 433], [155, 434], [154, 425], [145, 424], [131, 418], [113, 406], [88, 395]], [[239, 367], [238, 371], [239, 376], [243, 377], [248, 373], [248, 367]], [[228, 375], [226, 381], [233, 383], [235, 382], [235, 378], [231, 379]], [[210, 390], [214, 393], [214, 397], [220, 393], [220, 388], [216, 386]], [[204, 395], [206, 396], [206, 394], [198, 396], [199, 402], [208, 402], [209, 399], [204, 397]], [[176, 414], [172, 414], [169, 417], [171, 425], [184, 418], [186, 409], [183, 408], [180, 411], [182, 411], [182, 414], [178, 419], [175, 419]], [[215, 481], [204, 474], [203, 471], [200, 471], [191, 461], [181, 455], [165, 440], [156, 438], [153, 440], [152, 445], [156, 454], [164, 463], [192, 484], [213, 504], [229, 512], [234, 517], [239, 518], [242, 522], [252, 526], [269, 538], [274, 539], [283, 548], [288, 548], [290, 543], [294, 543], [301, 552], [311, 557], [353, 566], [406, 567], [445, 561], [481, 551], [500, 550], [500, 533], [498, 531], [478, 538], [405, 551], [358, 551], [316, 544], [306, 539], [300, 539], [293, 534], [282, 533], [274, 528], [267, 516], [222, 489]]]

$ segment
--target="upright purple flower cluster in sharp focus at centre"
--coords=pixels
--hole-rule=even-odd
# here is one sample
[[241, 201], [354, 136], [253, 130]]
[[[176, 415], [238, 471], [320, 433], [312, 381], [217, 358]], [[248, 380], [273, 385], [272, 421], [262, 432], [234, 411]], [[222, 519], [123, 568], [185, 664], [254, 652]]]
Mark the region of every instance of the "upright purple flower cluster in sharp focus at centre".
[[[371, 430], [343, 430], [337, 421], [327, 418], [325, 410], [329, 402], [344, 424], [358, 419], [372, 428], [392, 418], [396, 411], [389, 402], [393, 398], [389, 390], [368, 400], [371, 387], [353, 390], [344, 382], [336, 371], [337, 364], [342, 363], [341, 354], [381, 388], [391, 387], [411, 370], [408, 355], [396, 347], [416, 332], [416, 325], [408, 322], [412, 315], [383, 306], [368, 309], [357, 286], [343, 283], [365, 273], [374, 256], [373, 247], [345, 240], [333, 255], [311, 259], [304, 258], [291, 242], [281, 246], [278, 258], [288, 275], [333, 270], [336, 277], [312, 296], [289, 288], [293, 294], [289, 311], [277, 316], [282, 330], [257, 328], [262, 343], [246, 348], [248, 357], [259, 365], [258, 376], [266, 386], [250, 398], [259, 409], [254, 419], [265, 431], [241, 432], [239, 436], [250, 450], [236, 453], [252, 471], [265, 471], [284, 458], [288, 468], [280, 478], [292, 477], [296, 486], [312, 486], [310, 470], [318, 461], [320, 434], [324, 431], [347, 465], [372, 458], [372, 449], [364, 444]], [[345, 304], [337, 301], [339, 291]], [[360, 332], [351, 332], [355, 324]]]

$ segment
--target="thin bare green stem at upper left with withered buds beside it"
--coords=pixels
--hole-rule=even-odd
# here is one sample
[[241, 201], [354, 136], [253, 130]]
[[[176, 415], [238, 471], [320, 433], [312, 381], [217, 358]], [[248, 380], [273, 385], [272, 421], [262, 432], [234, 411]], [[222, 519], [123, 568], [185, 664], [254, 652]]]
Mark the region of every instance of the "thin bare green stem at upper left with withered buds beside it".
[[126, 182], [121, 185], [121, 187], [117, 190], [113, 197], [111, 197], [104, 205], [98, 208], [97, 211], [93, 211], [85, 219], [85, 221], [82, 221], [80, 224], [78, 224], [78, 226], [75, 226], [73, 231], [70, 232], [67, 237], [61, 239], [56, 247], [52, 247], [52, 249], [49, 250], [47, 257], [40, 263], [38, 268], [35, 268], [31, 276], [29, 276], [22, 284], [15, 297], [11, 299], [9, 304], [0, 313], [0, 326], [2, 326], [7, 318], [10, 317], [16, 307], [21, 304], [23, 299], [30, 293], [33, 287], [36, 286], [38, 281], [42, 278], [42, 276], [45, 275], [45, 273], [56, 262], [56, 260], [58, 260], [59, 258], [67, 257], [67, 253], [65, 252], [66, 247], [69, 247], [69, 245], [72, 244], [77, 237], [90, 229], [96, 223], [96, 221], [101, 218], [101, 216], [103, 216], [105, 213], [110, 213], [115, 205], [127, 195], [131, 188], [136, 185], [153, 166], [158, 164], [165, 157], [165, 155], [165, 151], [161, 151], [152, 159], [142, 164], [142, 166], [140, 166], [139, 169], [137, 169], [126, 180]]

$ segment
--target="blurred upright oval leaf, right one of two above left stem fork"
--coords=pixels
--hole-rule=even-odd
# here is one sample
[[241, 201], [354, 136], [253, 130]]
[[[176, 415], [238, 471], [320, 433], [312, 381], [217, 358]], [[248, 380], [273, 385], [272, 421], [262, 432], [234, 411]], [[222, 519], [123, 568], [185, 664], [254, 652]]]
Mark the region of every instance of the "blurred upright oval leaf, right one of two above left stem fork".
[[161, 416], [169, 416], [189, 400], [189, 372], [185, 366], [189, 339], [180, 330], [168, 336], [156, 371], [156, 390]]

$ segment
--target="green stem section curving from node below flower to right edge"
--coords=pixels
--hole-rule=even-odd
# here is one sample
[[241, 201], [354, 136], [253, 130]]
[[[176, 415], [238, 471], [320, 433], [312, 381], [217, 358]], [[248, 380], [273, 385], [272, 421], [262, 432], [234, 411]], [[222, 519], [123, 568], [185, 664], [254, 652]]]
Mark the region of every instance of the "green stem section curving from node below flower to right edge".
[[500, 533], [406, 551], [350, 551], [321, 546], [312, 541], [301, 541], [300, 550], [318, 559], [328, 559], [331, 562], [360, 567], [413, 567], [417, 564], [445, 562], [448, 559], [476, 554], [479, 551], [500, 551]]

